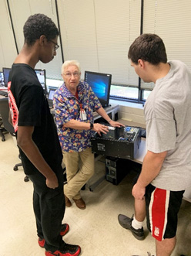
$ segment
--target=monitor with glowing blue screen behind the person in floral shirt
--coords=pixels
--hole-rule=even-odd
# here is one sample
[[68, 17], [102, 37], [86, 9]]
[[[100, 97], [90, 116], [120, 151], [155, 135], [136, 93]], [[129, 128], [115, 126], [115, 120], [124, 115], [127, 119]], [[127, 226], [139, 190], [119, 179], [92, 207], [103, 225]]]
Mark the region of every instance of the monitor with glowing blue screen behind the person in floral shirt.
[[112, 75], [109, 73], [96, 73], [85, 71], [84, 80], [92, 87], [95, 95], [99, 98], [103, 108], [109, 106], [109, 94], [112, 83]]

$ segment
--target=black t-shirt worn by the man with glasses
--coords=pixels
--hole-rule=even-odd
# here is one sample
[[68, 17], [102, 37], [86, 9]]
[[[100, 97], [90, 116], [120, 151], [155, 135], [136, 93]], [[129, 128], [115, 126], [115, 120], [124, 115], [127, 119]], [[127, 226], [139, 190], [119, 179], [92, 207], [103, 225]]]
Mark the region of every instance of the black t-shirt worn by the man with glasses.
[[[62, 150], [48, 101], [35, 70], [26, 64], [13, 64], [8, 78], [18, 108], [18, 126], [34, 126], [32, 139], [45, 161], [56, 172], [62, 164]], [[37, 169], [21, 148], [19, 151], [25, 174], [32, 174]]]

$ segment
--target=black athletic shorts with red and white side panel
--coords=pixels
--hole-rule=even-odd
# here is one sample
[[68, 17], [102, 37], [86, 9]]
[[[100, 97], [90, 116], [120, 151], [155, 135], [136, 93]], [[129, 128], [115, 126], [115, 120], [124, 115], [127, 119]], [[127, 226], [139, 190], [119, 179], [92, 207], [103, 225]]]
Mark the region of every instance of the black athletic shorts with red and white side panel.
[[182, 191], [146, 186], [146, 219], [152, 237], [162, 241], [176, 236], [178, 212], [183, 200]]

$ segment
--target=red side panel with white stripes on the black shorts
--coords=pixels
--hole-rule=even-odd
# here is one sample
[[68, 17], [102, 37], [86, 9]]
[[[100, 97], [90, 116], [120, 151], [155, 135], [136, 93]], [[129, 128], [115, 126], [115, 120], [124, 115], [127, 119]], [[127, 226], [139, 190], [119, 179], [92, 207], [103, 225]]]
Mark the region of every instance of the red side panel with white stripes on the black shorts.
[[169, 207], [169, 191], [155, 189], [149, 203], [149, 220], [152, 237], [162, 241], [166, 231], [167, 213]]

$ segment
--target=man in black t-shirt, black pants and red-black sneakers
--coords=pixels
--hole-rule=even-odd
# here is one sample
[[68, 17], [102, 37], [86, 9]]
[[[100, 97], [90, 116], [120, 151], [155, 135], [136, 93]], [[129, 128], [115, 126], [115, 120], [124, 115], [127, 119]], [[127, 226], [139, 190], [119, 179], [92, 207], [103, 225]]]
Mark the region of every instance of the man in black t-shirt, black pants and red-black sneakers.
[[62, 151], [49, 104], [35, 65], [56, 55], [59, 31], [49, 17], [36, 14], [25, 22], [25, 43], [8, 78], [8, 99], [25, 174], [34, 186], [33, 207], [39, 245], [45, 255], [78, 256], [80, 247], [65, 244]]

